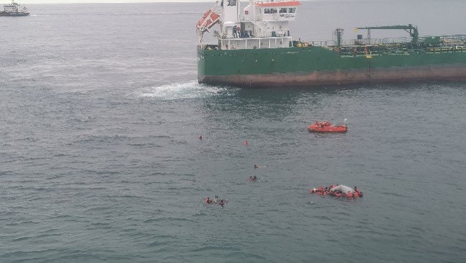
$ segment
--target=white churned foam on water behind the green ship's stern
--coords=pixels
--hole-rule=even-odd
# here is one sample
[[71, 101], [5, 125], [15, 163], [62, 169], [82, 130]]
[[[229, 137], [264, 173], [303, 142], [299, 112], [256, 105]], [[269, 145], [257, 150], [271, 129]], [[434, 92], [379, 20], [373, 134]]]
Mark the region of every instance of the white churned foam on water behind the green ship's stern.
[[136, 91], [136, 96], [162, 100], [197, 99], [210, 96], [231, 96], [236, 88], [198, 84], [197, 80], [151, 86]]

